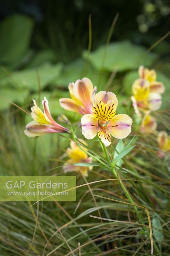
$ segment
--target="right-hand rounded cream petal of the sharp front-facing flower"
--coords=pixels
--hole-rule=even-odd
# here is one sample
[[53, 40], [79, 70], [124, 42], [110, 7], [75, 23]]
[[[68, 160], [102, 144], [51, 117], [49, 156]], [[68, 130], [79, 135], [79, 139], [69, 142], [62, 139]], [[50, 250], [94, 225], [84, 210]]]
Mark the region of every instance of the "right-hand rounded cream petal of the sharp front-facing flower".
[[125, 114], [119, 114], [108, 123], [107, 128], [111, 135], [117, 139], [126, 138], [131, 132], [132, 119]]

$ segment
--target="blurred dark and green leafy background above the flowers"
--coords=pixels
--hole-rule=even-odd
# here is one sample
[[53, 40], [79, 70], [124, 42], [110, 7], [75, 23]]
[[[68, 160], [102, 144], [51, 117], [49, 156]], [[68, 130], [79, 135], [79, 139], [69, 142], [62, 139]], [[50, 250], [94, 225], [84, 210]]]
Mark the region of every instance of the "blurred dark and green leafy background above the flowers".
[[[41, 91], [52, 101], [67, 96], [68, 84], [82, 76], [89, 77], [100, 90], [114, 71], [116, 76], [109, 87], [114, 86], [115, 92], [124, 89], [130, 95], [140, 64], [159, 69], [158, 79], [168, 89], [170, 37], [146, 53], [168, 32], [168, 2], [1, 0], [1, 95], [29, 107], [38, 93], [36, 69]], [[120, 15], [106, 51], [107, 36], [117, 12]], [[86, 69], [89, 14], [92, 14], [92, 47]], [[0, 110], [9, 106], [9, 102], [0, 101]], [[58, 107], [55, 110], [57, 115]]]

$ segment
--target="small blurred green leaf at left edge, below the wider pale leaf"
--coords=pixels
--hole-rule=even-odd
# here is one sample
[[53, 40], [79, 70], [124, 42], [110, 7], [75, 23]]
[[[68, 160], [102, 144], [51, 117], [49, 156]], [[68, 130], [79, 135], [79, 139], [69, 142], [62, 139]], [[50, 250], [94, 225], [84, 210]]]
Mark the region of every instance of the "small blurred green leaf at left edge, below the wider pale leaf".
[[[24, 104], [28, 97], [28, 90], [27, 89], [12, 89], [12, 88], [3, 88], [0, 91], [0, 96], [10, 100], [11, 102]], [[0, 97], [0, 110], [4, 110], [8, 108], [11, 103], [3, 98]]]

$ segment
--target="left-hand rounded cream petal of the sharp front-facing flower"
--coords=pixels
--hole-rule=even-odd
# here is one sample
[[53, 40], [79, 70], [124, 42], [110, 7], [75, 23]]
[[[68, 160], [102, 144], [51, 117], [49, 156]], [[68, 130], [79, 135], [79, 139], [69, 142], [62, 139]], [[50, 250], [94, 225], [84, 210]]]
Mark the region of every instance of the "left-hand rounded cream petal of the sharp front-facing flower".
[[87, 114], [81, 118], [81, 124], [82, 134], [85, 138], [88, 140], [93, 139], [98, 132], [98, 120], [93, 115]]

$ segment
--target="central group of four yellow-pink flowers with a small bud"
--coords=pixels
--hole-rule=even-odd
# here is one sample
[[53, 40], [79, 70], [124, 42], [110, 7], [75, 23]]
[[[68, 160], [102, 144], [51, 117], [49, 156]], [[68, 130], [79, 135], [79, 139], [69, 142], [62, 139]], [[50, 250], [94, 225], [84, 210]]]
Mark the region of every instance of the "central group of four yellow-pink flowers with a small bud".
[[[96, 90], [97, 87], [93, 88], [90, 79], [85, 77], [69, 84], [71, 99], [62, 98], [59, 101], [62, 108], [82, 115], [82, 134], [86, 139], [93, 139], [98, 134], [102, 143], [107, 147], [111, 144], [111, 135], [117, 139], [123, 139], [129, 135], [132, 119], [126, 114], [115, 115], [118, 100], [113, 92], [101, 91], [95, 95]], [[46, 98], [42, 101], [44, 113], [37, 106], [35, 100], [33, 100], [33, 103], [31, 116], [34, 121], [26, 125], [25, 134], [27, 136], [38, 137], [52, 132], [70, 132], [54, 121]], [[58, 120], [70, 125], [68, 119], [63, 115], [60, 115]], [[84, 140], [82, 140], [82, 143], [86, 145]], [[64, 172], [74, 170], [87, 176], [89, 167], [73, 165], [80, 162], [92, 162], [92, 158], [87, 155], [87, 150], [85, 148], [81, 149], [72, 141], [70, 148], [67, 149], [67, 155], [69, 160], [64, 164]]]

